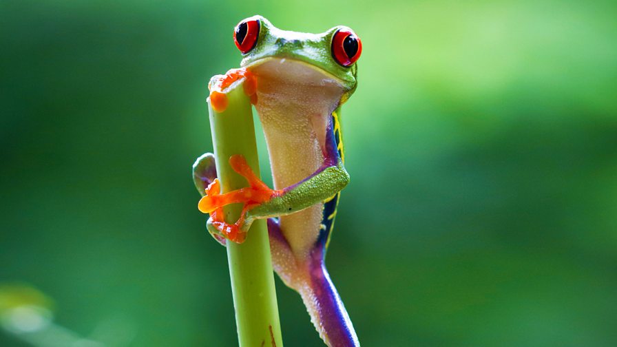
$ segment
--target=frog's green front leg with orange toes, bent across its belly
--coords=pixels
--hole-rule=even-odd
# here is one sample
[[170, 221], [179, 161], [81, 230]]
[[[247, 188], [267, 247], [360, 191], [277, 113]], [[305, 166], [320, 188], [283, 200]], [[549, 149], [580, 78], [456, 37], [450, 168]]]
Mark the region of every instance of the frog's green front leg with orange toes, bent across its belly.
[[[227, 224], [224, 221], [209, 223], [211, 233], [214, 232], [212, 229], [216, 229], [223, 235], [228, 233], [245, 235], [257, 218], [270, 218], [301, 211], [343, 189], [349, 182], [349, 174], [343, 167], [337, 150], [332, 119], [326, 129], [322, 151], [324, 162], [319, 169], [295, 185], [280, 190], [269, 189], [255, 176], [242, 156], [229, 158], [232, 169], [247, 179], [249, 187], [224, 194], [207, 194], [202, 197], [198, 207], [203, 213], [216, 213], [217, 209], [227, 204], [242, 202], [244, 209], [242, 216], [234, 224]], [[243, 240], [244, 238], [240, 238], [236, 242]]]

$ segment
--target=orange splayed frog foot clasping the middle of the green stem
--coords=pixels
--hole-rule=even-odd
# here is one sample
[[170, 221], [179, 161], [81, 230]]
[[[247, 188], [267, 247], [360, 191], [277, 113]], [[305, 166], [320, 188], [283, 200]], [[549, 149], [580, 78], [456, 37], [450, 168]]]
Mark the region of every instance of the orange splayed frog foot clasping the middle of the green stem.
[[[206, 195], [199, 200], [198, 208], [203, 213], [210, 213], [212, 226], [220, 232], [220, 235], [231, 242], [242, 243], [246, 239], [246, 229], [249, 227], [245, 224], [249, 209], [278, 196], [281, 191], [270, 189], [262, 182], [251, 170], [244, 156], [239, 154], [231, 156], [229, 164], [233, 171], [247, 179], [249, 187], [220, 194], [220, 182], [217, 178], [206, 189]], [[233, 224], [225, 222], [222, 207], [238, 202], [244, 204], [240, 218]], [[217, 237], [220, 235], [213, 234], [219, 242], [222, 241]]]

